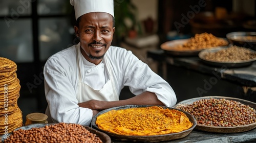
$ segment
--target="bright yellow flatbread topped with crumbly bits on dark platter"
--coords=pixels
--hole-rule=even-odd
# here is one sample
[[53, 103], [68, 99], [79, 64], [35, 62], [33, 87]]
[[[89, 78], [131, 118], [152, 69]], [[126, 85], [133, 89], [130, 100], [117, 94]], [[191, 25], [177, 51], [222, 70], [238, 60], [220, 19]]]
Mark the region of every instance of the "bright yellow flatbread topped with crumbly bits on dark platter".
[[111, 110], [100, 114], [96, 125], [121, 135], [160, 135], [187, 130], [193, 123], [181, 111], [151, 106]]

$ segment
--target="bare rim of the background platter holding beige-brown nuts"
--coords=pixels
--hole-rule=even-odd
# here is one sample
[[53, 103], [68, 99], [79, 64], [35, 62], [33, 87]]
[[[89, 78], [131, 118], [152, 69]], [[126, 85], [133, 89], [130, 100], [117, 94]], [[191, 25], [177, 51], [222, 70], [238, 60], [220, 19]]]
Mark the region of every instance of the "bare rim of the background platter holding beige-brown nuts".
[[[199, 58], [206, 64], [210, 64], [213, 66], [226, 66], [229, 68], [235, 68], [235, 67], [243, 67], [243, 66], [249, 66], [251, 65], [256, 58], [250, 59], [250, 60], [240, 60], [240, 61], [230, 61], [230, 62], [219, 62], [219, 61], [213, 61], [213, 60], [207, 60], [205, 59], [205, 55], [209, 53], [215, 53], [218, 52], [222, 49], [226, 49], [227, 47], [217, 47], [216, 49], [208, 49], [208, 50], [203, 50], [201, 51], [198, 56]], [[248, 49], [250, 50], [250, 49]], [[250, 50], [252, 53], [256, 53], [256, 51]]]

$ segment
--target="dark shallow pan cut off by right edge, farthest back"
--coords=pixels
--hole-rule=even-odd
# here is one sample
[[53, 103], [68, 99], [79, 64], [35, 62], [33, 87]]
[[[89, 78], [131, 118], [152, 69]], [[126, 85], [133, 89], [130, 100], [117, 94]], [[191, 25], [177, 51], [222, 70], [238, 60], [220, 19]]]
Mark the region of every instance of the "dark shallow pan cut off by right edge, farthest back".
[[256, 51], [256, 32], [231, 32], [226, 34], [231, 44]]

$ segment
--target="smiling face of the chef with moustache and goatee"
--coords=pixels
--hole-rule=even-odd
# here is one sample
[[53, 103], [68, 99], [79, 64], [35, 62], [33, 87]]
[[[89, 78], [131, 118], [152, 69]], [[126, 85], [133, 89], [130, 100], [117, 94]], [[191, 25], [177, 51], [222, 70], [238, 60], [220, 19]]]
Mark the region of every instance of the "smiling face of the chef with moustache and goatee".
[[112, 15], [104, 12], [84, 14], [81, 16], [79, 28], [74, 28], [76, 35], [80, 37], [83, 57], [99, 64], [108, 51], [115, 32]]

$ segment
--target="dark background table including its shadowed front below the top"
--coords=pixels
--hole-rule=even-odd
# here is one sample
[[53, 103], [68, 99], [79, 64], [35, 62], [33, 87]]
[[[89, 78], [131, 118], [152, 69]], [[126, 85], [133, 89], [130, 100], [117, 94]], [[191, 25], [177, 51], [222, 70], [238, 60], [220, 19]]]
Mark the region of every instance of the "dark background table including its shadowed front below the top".
[[226, 96], [256, 102], [256, 61], [244, 67], [212, 66], [198, 56], [147, 52], [157, 61], [158, 74], [174, 88], [177, 101], [203, 96]]

